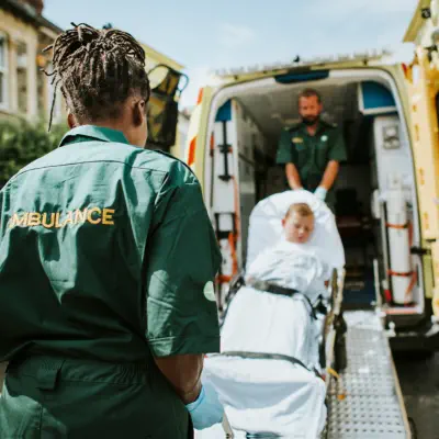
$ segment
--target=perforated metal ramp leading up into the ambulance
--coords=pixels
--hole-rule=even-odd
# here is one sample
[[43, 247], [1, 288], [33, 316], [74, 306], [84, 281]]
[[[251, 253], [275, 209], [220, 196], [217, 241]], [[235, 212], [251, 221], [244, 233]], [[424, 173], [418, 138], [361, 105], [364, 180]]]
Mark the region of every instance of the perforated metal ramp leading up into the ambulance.
[[328, 393], [328, 439], [408, 439], [389, 340], [372, 311], [346, 312], [348, 367]]

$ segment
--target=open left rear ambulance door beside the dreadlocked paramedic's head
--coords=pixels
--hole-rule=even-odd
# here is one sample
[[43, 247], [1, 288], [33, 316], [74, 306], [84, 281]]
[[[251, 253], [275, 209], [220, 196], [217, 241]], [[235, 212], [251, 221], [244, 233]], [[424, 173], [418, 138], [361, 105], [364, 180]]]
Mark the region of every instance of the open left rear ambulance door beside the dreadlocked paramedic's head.
[[166, 65], [158, 65], [148, 72], [151, 95], [148, 103], [148, 138], [146, 147], [169, 151], [176, 144], [178, 124], [178, 99], [181, 77], [188, 77]]

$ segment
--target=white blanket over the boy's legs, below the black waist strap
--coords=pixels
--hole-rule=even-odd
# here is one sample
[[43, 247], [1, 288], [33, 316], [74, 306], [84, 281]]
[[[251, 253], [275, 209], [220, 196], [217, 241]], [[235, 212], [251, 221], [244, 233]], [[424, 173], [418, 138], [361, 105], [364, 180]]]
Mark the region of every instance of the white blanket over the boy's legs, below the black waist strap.
[[[319, 334], [320, 320], [309, 315], [308, 303], [300, 296], [245, 286], [229, 305], [222, 351], [281, 353], [318, 368]], [[302, 365], [211, 356], [204, 362], [203, 381], [213, 383], [237, 431], [316, 439], [324, 429], [325, 383]], [[224, 437], [218, 427], [203, 435], [196, 438]]]

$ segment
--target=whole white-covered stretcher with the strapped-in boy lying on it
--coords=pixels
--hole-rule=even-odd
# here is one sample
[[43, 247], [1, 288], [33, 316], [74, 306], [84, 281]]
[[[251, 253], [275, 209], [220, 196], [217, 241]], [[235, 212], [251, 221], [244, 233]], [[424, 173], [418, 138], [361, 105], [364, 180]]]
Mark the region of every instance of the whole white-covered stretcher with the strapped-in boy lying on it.
[[314, 305], [345, 266], [334, 214], [306, 191], [271, 195], [251, 213], [247, 249], [245, 284], [230, 290], [223, 316], [222, 353], [207, 356], [203, 380], [235, 431], [316, 439], [327, 412], [315, 373], [326, 368], [325, 315]]

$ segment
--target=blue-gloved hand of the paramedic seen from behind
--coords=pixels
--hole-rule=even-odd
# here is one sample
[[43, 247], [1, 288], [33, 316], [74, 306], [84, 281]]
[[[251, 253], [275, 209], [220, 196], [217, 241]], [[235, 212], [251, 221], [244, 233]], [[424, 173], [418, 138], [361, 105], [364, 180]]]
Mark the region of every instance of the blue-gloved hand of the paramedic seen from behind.
[[196, 430], [212, 427], [223, 420], [224, 407], [219, 403], [218, 395], [212, 384], [205, 383], [200, 396], [185, 406], [191, 414], [193, 427]]

